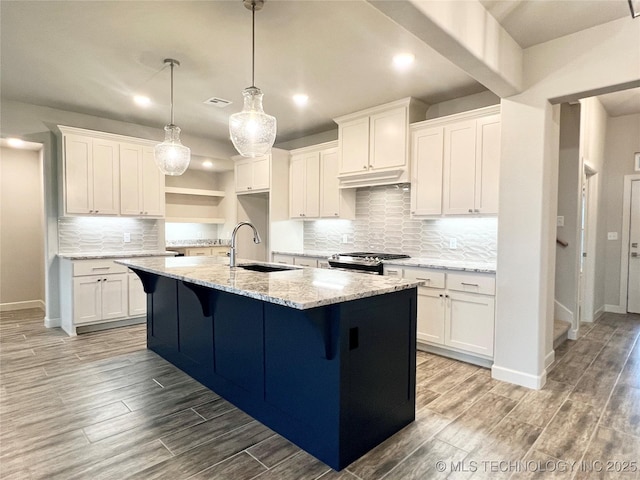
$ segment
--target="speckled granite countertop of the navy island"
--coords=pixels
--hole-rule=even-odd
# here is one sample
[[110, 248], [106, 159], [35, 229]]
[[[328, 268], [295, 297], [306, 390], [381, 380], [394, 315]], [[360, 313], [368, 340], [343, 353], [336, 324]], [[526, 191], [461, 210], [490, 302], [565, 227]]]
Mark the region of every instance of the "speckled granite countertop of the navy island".
[[[117, 263], [298, 310], [373, 297], [414, 288], [423, 283], [309, 267], [259, 273], [240, 267], [231, 269], [229, 259], [225, 257], [140, 258], [119, 260]], [[262, 262], [238, 261], [239, 265], [246, 263]]]

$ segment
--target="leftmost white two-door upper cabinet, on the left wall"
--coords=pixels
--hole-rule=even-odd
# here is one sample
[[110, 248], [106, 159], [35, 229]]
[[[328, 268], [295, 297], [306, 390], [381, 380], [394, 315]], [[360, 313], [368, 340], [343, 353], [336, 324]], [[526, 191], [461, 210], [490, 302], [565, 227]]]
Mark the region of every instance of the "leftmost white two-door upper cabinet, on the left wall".
[[120, 213], [118, 144], [83, 135], [65, 135], [63, 148], [64, 212]]

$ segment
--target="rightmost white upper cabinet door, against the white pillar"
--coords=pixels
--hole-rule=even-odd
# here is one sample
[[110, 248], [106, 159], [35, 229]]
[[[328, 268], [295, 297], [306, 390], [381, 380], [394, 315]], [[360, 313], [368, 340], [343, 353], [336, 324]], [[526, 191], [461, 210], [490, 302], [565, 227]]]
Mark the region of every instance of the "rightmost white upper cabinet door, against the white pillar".
[[475, 211], [498, 213], [500, 115], [491, 115], [477, 121], [476, 144]]

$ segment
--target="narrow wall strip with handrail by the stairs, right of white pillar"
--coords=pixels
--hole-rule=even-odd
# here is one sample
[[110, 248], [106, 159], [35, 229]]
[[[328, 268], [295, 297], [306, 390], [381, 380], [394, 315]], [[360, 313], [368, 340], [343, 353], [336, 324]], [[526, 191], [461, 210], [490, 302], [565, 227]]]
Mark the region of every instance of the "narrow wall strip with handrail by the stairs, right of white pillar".
[[[556, 244], [556, 276], [554, 317], [573, 323], [577, 313], [577, 271], [580, 244], [580, 105], [563, 104], [560, 117], [560, 169], [558, 172], [558, 216], [564, 226], [557, 236], [569, 245]], [[575, 327], [575, 326], [574, 326]]]

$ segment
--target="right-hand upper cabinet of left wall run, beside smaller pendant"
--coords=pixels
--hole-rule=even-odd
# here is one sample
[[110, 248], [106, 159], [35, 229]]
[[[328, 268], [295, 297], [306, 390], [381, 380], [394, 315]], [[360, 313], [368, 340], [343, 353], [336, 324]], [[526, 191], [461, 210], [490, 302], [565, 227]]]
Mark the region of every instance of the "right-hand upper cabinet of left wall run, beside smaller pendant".
[[164, 216], [165, 178], [156, 166], [153, 149], [120, 144], [120, 213]]

